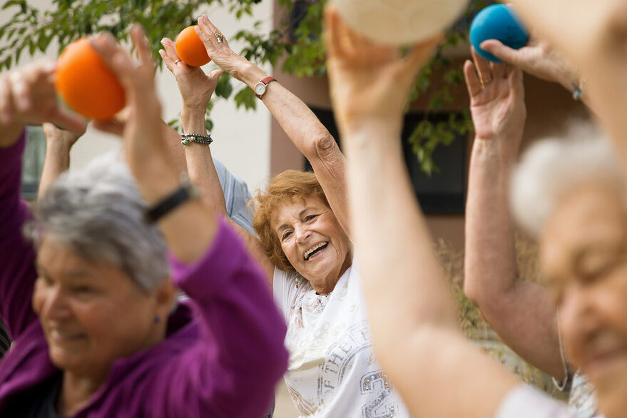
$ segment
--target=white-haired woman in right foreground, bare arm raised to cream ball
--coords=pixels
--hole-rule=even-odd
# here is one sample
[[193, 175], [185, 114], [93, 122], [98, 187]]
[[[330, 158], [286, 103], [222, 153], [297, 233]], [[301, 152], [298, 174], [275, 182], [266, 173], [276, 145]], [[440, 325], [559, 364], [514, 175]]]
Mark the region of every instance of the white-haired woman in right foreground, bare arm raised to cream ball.
[[[374, 346], [410, 412], [420, 417], [573, 417], [566, 407], [524, 386], [481, 354], [457, 327], [447, 282], [402, 170], [399, 146], [408, 93], [402, 87], [421, 63], [412, 57], [429, 51], [429, 45], [399, 58], [397, 49], [352, 32], [332, 9], [327, 27], [332, 96], [349, 157], [352, 227], [363, 257]], [[467, 65], [470, 88], [481, 88], [469, 69]], [[364, 86], [353, 81], [356, 73], [372, 82]], [[501, 76], [513, 84], [520, 74]], [[381, 113], [383, 103], [391, 111]], [[370, 139], [373, 128], [379, 133], [376, 141]], [[529, 179], [533, 173], [529, 180], [534, 188], [546, 193], [521, 199], [525, 208], [543, 203], [532, 223], [542, 231], [541, 265], [561, 312], [571, 360], [598, 390], [605, 417], [624, 417], [626, 178], [603, 143], [551, 145], [531, 159], [520, 175]], [[392, 212], [394, 218], [381, 216]], [[385, 285], [382, 272], [387, 272]], [[407, 292], [412, 286], [421, 292]]]

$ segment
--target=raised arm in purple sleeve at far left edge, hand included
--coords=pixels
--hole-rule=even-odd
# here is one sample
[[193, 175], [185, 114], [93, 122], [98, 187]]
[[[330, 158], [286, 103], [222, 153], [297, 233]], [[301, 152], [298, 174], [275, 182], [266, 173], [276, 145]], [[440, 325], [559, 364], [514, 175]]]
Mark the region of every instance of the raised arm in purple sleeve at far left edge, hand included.
[[0, 76], [0, 317], [13, 338], [36, 320], [31, 308], [35, 253], [22, 234], [31, 218], [20, 199], [24, 128], [54, 121], [84, 129], [83, 120], [56, 101], [53, 68], [53, 61], [40, 61]]

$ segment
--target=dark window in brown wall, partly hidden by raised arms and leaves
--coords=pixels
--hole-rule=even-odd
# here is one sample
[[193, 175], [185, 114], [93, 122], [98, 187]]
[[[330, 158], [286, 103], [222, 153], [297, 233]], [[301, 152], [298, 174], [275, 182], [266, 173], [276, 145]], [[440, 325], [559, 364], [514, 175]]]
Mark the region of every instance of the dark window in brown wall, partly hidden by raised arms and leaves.
[[[312, 108], [312, 111], [341, 147], [342, 142], [332, 111], [320, 108]], [[421, 170], [417, 156], [407, 141], [417, 123], [424, 118], [422, 112], [407, 114], [402, 131], [405, 164], [412, 178], [416, 197], [424, 213], [463, 214], [466, 199], [466, 138], [459, 136], [451, 145], [440, 145], [436, 148], [433, 160], [439, 171], [429, 176]], [[434, 123], [448, 121], [449, 113], [430, 114], [428, 118]], [[305, 170], [311, 169], [309, 161], [305, 159]]]

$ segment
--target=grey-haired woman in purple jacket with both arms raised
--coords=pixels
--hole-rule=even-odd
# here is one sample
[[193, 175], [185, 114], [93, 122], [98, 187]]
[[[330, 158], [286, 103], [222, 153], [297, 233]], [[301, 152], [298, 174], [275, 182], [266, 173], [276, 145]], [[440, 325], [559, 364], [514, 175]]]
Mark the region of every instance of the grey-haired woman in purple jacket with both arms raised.
[[[101, 161], [51, 185], [29, 228], [36, 251], [21, 234], [20, 133], [81, 121], [58, 107], [53, 65], [1, 78], [3, 417], [260, 417], [285, 370], [262, 272], [168, 160], [151, 53], [132, 36], [139, 66], [111, 36], [92, 41], [126, 89], [131, 170]], [[192, 302], [173, 310], [175, 286]]]

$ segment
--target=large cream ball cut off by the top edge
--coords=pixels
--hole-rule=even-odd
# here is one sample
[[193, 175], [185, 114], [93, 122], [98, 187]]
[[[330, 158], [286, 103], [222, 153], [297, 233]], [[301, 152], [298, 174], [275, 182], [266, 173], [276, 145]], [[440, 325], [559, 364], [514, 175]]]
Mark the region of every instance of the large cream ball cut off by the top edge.
[[467, 0], [333, 0], [355, 31], [379, 44], [424, 41], [453, 23]]

